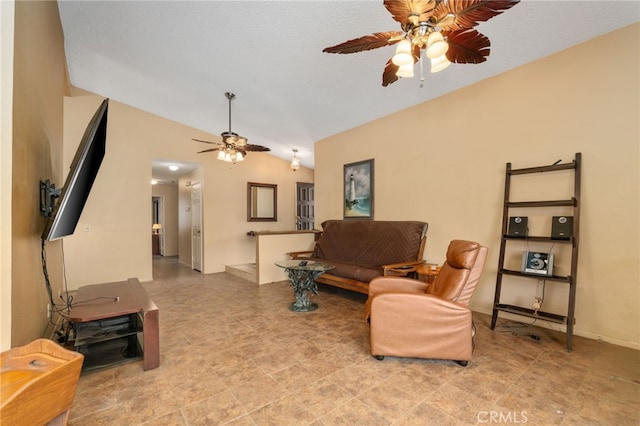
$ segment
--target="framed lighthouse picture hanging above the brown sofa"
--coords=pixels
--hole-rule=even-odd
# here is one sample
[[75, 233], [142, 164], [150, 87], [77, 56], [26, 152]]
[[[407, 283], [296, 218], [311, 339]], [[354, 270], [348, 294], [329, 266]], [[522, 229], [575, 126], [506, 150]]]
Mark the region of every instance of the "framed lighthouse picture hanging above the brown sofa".
[[344, 218], [373, 219], [373, 159], [344, 165]]

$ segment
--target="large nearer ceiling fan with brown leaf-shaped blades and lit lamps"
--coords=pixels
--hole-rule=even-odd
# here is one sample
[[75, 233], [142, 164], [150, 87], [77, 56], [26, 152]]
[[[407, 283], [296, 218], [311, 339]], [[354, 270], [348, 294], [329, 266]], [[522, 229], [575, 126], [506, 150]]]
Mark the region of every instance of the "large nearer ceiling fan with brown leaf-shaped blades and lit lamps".
[[[335, 46], [327, 53], [356, 53], [397, 44], [395, 55], [387, 61], [382, 85], [400, 77], [413, 77], [413, 66], [424, 54], [431, 59], [431, 72], [455, 62], [479, 64], [487, 60], [491, 43], [473, 29], [515, 6], [519, 0], [384, 0], [384, 6], [402, 31], [373, 33]], [[422, 70], [422, 67], [421, 67]], [[421, 78], [421, 81], [424, 77]], [[422, 86], [422, 85], [421, 85]]]

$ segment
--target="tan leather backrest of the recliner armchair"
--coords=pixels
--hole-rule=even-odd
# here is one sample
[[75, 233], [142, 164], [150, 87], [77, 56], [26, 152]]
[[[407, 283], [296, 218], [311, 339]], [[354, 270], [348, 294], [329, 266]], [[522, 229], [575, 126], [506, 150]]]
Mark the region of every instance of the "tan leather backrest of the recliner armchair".
[[480, 279], [487, 248], [473, 241], [453, 240], [447, 260], [427, 294], [468, 305]]

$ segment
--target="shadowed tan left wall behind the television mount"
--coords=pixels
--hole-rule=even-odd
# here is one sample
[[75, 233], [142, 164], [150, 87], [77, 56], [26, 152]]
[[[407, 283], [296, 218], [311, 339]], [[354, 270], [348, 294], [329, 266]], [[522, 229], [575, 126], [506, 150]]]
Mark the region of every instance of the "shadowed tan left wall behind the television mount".
[[[18, 346], [40, 337], [47, 325], [48, 298], [40, 261], [45, 220], [38, 193], [40, 180], [52, 179], [60, 186], [62, 177], [66, 76], [56, 2], [15, 3], [14, 49], [11, 344]], [[46, 248], [56, 298], [62, 280], [61, 247], [56, 241]]]

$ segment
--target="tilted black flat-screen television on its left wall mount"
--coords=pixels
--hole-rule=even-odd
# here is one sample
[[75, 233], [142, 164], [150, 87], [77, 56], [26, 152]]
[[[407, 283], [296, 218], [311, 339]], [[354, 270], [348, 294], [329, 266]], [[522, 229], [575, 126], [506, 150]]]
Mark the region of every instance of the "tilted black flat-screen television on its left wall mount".
[[[40, 182], [40, 210], [48, 217], [42, 239], [52, 241], [73, 234], [105, 154], [109, 99], [91, 118], [61, 189]], [[56, 198], [58, 202], [56, 203]]]

